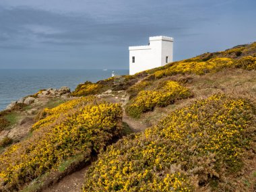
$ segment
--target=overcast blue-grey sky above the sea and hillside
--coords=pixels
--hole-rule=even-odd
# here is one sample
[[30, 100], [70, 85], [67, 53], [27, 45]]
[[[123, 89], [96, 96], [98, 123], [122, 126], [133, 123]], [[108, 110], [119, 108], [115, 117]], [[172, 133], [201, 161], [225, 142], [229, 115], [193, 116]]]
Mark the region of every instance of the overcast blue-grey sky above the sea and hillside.
[[255, 0], [0, 0], [0, 69], [128, 69], [128, 46], [174, 38], [174, 61], [256, 41]]

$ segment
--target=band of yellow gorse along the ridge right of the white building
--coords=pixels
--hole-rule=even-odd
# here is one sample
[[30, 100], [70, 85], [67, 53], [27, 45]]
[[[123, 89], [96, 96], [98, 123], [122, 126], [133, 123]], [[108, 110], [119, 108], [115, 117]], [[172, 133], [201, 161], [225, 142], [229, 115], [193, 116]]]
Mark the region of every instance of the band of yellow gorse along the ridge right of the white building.
[[224, 68], [256, 69], [256, 42], [241, 45], [220, 51], [217, 53], [204, 53], [191, 59], [175, 61], [162, 67], [149, 69], [146, 73], [151, 74], [148, 79], [160, 79], [176, 74], [203, 75], [205, 73], [220, 71]]

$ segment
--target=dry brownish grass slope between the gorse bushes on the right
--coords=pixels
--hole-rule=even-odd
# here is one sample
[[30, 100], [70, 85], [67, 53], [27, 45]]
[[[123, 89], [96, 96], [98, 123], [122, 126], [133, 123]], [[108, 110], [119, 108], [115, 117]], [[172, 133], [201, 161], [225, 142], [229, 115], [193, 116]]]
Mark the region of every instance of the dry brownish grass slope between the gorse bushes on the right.
[[[189, 80], [188, 80], [189, 79]], [[207, 98], [213, 94], [227, 94], [232, 97], [243, 97], [256, 103], [256, 71], [243, 69], [224, 69], [218, 73], [207, 73], [206, 75], [174, 75], [156, 81], [174, 80], [184, 82], [193, 93], [193, 98], [177, 100], [165, 108], [156, 108], [154, 111], [141, 115], [141, 121], [147, 125], [155, 125], [167, 114], [189, 106], [195, 100]]]

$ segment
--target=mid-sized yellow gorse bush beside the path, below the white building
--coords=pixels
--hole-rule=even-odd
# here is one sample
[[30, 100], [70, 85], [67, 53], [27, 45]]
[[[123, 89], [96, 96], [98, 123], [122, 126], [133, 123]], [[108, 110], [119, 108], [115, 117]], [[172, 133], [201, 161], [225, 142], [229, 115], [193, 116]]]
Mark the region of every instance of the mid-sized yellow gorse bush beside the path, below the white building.
[[141, 113], [153, 110], [156, 106], [167, 106], [174, 100], [188, 98], [191, 92], [177, 82], [166, 81], [158, 90], [143, 90], [131, 100], [126, 108], [131, 117], [139, 118]]

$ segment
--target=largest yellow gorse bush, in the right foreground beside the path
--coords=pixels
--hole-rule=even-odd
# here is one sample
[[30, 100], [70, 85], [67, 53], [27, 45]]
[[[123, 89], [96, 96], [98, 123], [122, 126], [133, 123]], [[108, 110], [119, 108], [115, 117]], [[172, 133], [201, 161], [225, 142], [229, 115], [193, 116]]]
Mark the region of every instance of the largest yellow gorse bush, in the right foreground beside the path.
[[199, 100], [170, 113], [155, 127], [108, 146], [86, 173], [84, 191], [227, 186], [226, 177], [238, 176], [241, 158], [252, 149], [253, 131], [255, 111], [247, 100], [224, 95]]

